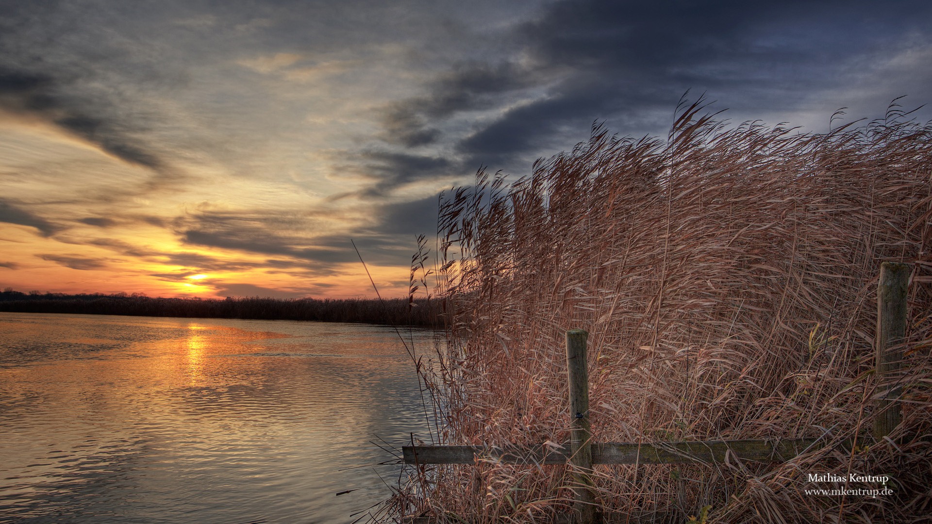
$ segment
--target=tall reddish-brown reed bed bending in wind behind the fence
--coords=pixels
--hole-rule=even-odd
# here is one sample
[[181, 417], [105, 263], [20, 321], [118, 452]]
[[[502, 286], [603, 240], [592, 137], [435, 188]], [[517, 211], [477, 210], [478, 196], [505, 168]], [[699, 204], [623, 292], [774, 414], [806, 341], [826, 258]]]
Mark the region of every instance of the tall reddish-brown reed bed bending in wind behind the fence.
[[[564, 334], [590, 333], [594, 439], [823, 437], [777, 464], [596, 466], [598, 510], [634, 522], [918, 522], [932, 514], [932, 125], [887, 116], [825, 134], [729, 126], [681, 105], [666, 140], [603, 127], [514, 185], [480, 171], [442, 201], [446, 344], [422, 366], [434, 439], [568, 440]], [[873, 375], [877, 275], [912, 265], [905, 362]], [[428, 373], [432, 370], [431, 373]], [[873, 399], [903, 421], [870, 439]], [[855, 448], [837, 444], [854, 438]], [[882, 488], [809, 474], [888, 475]], [[550, 522], [565, 466], [421, 467], [379, 517]], [[692, 518], [692, 520], [691, 520]]]

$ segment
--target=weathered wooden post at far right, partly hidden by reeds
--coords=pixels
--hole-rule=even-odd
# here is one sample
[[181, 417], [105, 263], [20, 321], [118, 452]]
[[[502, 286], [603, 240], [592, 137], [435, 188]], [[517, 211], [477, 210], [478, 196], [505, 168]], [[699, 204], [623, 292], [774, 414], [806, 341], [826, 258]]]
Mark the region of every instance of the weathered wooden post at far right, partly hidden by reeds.
[[[903, 360], [902, 344], [906, 338], [906, 290], [910, 282], [909, 264], [884, 262], [880, 265], [877, 286], [877, 341], [874, 351], [877, 378], [888, 382], [890, 375], [899, 370]], [[882, 386], [883, 387], [883, 386]], [[892, 388], [876, 401], [877, 417], [873, 436], [883, 438], [899, 424], [901, 415], [899, 397], [902, 388]]]

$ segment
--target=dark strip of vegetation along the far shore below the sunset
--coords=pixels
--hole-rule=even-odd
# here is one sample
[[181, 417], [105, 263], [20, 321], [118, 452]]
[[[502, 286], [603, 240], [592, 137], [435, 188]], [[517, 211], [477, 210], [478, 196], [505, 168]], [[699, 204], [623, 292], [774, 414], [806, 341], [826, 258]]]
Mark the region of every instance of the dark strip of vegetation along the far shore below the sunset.
[[146, 317], [297, 320], [365, 324], [443, 324], [440, 301], [430, 298], [163, 298], [140, 294], [115, 295], [0, 292], [0, 311], [75, 313]]

